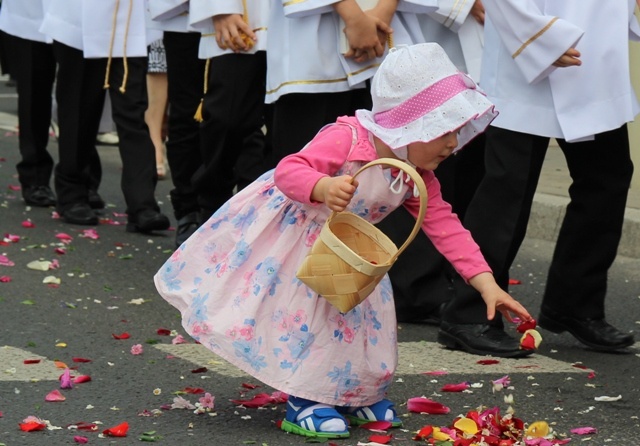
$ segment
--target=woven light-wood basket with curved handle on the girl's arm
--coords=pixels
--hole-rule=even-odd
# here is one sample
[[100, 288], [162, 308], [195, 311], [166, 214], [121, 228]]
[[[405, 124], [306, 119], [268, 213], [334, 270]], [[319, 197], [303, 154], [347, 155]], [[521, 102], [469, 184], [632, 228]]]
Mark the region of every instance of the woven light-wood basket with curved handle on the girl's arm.
[[420, 211], [413, 231], [398, 249], [377, 227], [351, 212], [333, 212], [298, 269], [296, 277], [327, 299], [340, 312], [365, 300], [389, 271], [400, 253], [417, 235], [427, 210], [427, 189], [422, 177], [408, 164], [381, 158], [364, 165], [397, 167], [407, 173], [420, 192]]

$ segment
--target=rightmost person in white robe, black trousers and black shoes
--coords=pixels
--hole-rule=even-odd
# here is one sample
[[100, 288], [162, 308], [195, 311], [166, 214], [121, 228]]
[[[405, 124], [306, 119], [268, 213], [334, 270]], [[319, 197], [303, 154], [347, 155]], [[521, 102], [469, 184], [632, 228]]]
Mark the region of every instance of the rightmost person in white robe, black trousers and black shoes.
[[[525, 236], [550, 138], [573, 183], [543, 296], [539, 325], [570, 332], [605, 352], [634, 343], [605, 319], [607, 272], [624, 218], [633, 164], [626, 123], [638, 113], [629, 39], [634, 0], [483, 0], [487, 13], [480, 83], [500, 115], [487, 130], [486, 175], [464, 224], [498, 283]], [[518, 357], [501, 320], [487, 321], [480, 296], [455, 281], [438, 340], [474, 354]]]

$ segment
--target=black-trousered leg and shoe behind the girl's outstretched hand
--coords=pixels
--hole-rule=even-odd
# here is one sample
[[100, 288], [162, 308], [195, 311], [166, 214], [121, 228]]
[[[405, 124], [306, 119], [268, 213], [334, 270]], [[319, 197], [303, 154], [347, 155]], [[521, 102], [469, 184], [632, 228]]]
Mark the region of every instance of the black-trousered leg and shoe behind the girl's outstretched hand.
[[[509, 268], [524, 239], [549, 139], [489, 127], [486, 173], [473, 196], [464, 225], [480, 246], [496, 281], [507, 289]], [[521, 356], [518, 342], [503, 331], [502, 318], [486, 317], [480, 294], [454, 278], [454, 295], [446, 305], [438, 340], [475, 354]]]

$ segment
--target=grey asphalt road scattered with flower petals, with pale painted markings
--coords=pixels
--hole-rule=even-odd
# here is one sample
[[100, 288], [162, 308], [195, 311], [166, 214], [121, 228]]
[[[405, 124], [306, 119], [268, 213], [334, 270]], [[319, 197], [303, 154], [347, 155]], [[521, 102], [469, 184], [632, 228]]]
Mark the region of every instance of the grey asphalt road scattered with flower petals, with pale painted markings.
[[[6, 116], [15, 111], [10, 95], [10, 90], [0, 89], [0, 112]], [[271, 395], [274, 389], [251, 388], [261, 383], [187, 336], [185, 344], [172, 343], [175, 334], [185, 334], [177, 311], [155, 292], [152, 276], [172, 252], [173, 233], [125, 232], [117, 148], [99, 149], [104, 164], [100, 193], [108, 207], [95, 233], [87, 233], [85, 227], [55, 219], [52, 209], [24, 205], [15, 190], [17, 135], [11, 129], [0, 132], [0, 237], [5, 239], [0, 245], [0, 277], [10, 278], [0, 281], [0, 445], [70, 445], [76, 444], [74, 436], [86, 437], [89, 444], [117, 445], [145, 440], [184, 446], [304, 444], [304, 438], [277, 429], [283, 404], [246, 408], [232, 401]], [[53, 139], [51, 149], [57, 149]], [[170, 188], [170, 179], [157, 188], [167, 214]], [[512, 271], [522, 282], [513, 287], [514, 296], [534, 314], [552, 248], [550, 242], [527, 239]], [[34, 261], [39, 263], [31, 264]], [[33, 269], [46, 262], [53, 262], [54, 268]], [[637, 331], [640, 323], [639, 271], [640, 260], [619, 257], [610, 274], [608, 318], [627, 330]], [[58, 280], [59, 284], [44, 283]], [[481, 365], [481, 357], [439, 347], [435, 327], [402, 324], [400, 366], [389, 398], [398, 405], [404, 428], [390, 431], [390, 444], [421, 444], [412, 439], [415, 431], [425, 425], [448, 426], [457, 415], [480, 406], [498, 407], [502, 414], [512, 406], [514, 416], [525, 424], [546, 421], [558, 438], [570, 437], [569, 444], [640, 444], [639, 344], [625, 354], [602, 354], [583, 348], [567, 334], [540, 331], [543, 343], [530, 358]], [[127, 339], [116, 339], [125, 334]], [[131, 349], [137, 344], [143, 352], [134, 355]], [[65, 365], [73, 376], [91, 380], [61, 389]], [[446, 374], [426, 373], [433, 371]], [[494, 392], [491, 381], [505, 375], [511, 386]], [[445, 384], [462, 382], [470, 383], [464, 392], [441, 390]], [[215, 397], [212, 412], [166, 409], [178, 395], [197, 402], [203, 394], [189, 393], [194, 389]], [[45, 401], [54, 390], [65, 400]], [[512, 404], [505, 402], [507, 395], [513, 396]], [[451, 411], [410, 413], [407, 400], [418, 396]], [[598, 401], [599, 397], [616, 398]], [[48, 420], [51, 428], [21, 431], [19, 424], [28, 416]], [[129, 425], [126, 437], [100, 435], [124, 422]], [[74, 429], [82, 423], [95, 423], [97, 430]], [[587, 426], [597, 433], [571, 433]], [[371, 435], [354, 428], [350, 439], [334, 443], [355, 446]]]

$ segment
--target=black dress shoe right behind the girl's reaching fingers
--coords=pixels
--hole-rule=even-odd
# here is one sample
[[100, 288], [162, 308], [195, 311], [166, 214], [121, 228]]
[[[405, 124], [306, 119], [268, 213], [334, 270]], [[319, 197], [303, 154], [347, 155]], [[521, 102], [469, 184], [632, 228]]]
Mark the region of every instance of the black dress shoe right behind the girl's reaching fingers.
[[474, 355], [523, 358], [533, 353], [533, 350], [521, 349], [520, 342], [502, 328], [488, 324], [450, 324], [443, 321], [438, 332], [438, 342], [452, 350], [462, 350]]

